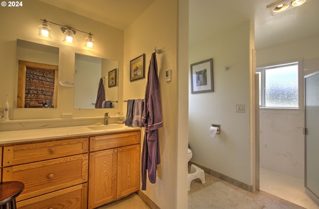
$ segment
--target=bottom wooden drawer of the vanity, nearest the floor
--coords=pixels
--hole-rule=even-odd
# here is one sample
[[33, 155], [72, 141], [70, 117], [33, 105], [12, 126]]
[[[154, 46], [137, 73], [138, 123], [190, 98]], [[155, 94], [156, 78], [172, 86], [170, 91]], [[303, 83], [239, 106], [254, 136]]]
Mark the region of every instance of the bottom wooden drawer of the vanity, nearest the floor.
[[16, 203], [18, 209], [86, 209], [87, 183]]

